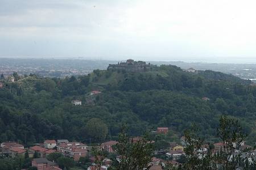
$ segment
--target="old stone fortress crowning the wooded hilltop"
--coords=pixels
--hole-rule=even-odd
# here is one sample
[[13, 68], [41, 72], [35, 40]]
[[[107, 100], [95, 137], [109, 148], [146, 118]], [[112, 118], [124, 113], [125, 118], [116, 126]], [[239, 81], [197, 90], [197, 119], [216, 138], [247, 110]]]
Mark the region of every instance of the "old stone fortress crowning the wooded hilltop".
[[126, 62], [118, 62], [108, 66], [108, 70], [126, 70], [127, 72], [144, 72], [150, 70], [150, 63], [146, 64], [144, 61], [134, 61], [127, 59]]

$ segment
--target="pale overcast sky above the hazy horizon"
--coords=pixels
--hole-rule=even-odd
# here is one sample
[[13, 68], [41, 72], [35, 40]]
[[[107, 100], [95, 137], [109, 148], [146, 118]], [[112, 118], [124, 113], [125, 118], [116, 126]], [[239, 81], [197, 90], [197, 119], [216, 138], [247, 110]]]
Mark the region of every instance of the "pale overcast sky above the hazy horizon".
[[0, 57], [256, 63], [255, 8], [255, 0], [0, 0]]

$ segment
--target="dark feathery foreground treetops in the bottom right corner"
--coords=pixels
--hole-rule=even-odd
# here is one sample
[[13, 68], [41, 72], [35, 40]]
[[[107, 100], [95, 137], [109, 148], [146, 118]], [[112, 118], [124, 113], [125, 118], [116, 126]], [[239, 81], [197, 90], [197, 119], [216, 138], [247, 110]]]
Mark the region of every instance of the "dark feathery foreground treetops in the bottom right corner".
[[[177, 167], [171, 164], [167, 164], [163, 169], [222, 169], [232, 170], [236, 169], [237, 165], [245, 169], [254, 169], [255, 160], [250, 158], [250, 151], [247, 150], [247, 158], [242, 157], [242, 152], [234, 154], [237, 147], [241, 145], [241, 142], [245, 139], [242, 128], [238, 120], [227, 116], [221, 116], [220, 125], [217, 129], [218, 137], [222, 140], [223, 150], [217, 154], [212, 153], [212, 145], [208, 143], [209, 149], [207, 153], [200, 150], [204, 140], [197, 135], [198, 129], [192, 127], [190, 130], [185, 131], [185, 142], [187, 143], [185, 148], [186, 162]], [[251, 160], [252, 163], [249, 163]]]

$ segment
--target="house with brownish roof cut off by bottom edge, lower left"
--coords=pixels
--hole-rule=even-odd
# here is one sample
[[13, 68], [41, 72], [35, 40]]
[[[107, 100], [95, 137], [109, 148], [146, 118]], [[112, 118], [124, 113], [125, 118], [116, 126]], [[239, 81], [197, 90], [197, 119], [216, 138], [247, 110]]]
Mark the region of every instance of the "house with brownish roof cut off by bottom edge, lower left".
[[38, 170], [62, 170], [57, 163], [51, 162], [46, 158], [33, 159], [32, 167], [36, 167]]

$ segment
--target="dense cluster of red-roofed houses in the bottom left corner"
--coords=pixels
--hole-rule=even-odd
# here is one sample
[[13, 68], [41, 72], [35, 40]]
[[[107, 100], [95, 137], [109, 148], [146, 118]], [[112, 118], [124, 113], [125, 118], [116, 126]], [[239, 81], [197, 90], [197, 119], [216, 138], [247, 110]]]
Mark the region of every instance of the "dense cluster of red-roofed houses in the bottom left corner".
[[39, 158], [32, 160], [32, 166], [38, 169], [60, 169], [56, 163], [50, 162], [46, 156], [53, 152], [60, 152], [63, 156], [73, 158], [78, 161], [80, 157], [85, 157], [88, 152], [88, 146], [81, 142], [69, 142], [66, 139], [46, 140], [44, 143], [32, 147], [24, 148], [17, 142], [1, 143], [1, 153], [9, 155], [11, 158], [24, 157], [26, 152], [30, 158], [33, 158], [35, 152]]

